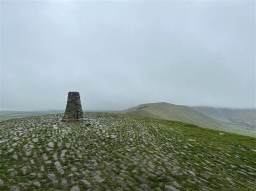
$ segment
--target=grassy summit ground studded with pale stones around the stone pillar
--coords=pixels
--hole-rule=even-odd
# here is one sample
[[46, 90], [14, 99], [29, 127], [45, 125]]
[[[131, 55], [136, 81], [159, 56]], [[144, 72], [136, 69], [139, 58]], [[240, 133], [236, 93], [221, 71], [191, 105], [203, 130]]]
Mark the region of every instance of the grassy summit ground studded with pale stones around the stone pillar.
[[0, 122], [0, 190], [256, 190], [256, 139], [106, 113]]

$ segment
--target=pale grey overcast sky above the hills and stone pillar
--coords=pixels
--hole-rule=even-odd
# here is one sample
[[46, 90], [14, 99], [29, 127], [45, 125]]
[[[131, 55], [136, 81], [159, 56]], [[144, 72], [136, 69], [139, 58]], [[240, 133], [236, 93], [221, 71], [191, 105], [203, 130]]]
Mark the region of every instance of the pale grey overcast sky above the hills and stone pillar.
[[254, 1], [1, 1], [1, 109], [255, 107]]

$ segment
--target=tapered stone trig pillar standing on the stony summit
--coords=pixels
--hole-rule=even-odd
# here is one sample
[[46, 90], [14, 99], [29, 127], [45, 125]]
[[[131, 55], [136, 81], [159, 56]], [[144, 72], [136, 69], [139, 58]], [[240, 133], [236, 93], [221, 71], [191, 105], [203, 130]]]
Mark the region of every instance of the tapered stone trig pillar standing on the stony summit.
[[79, 119], [83, 119], [80, 95], [77, 91], [70, 91], [62, 121], [78, 121]]

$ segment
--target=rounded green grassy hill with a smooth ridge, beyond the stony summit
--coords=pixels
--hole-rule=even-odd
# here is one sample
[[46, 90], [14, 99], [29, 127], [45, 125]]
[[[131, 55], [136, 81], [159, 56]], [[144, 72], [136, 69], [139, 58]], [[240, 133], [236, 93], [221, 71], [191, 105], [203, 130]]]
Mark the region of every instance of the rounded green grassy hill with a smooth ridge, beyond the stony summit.
[[226, 124], [215, 118], [207, 116], [198, 109], [185, 105], [174, 105], [171, 103], [147, 103], [121, 111], [122, 114], [133, 116], [151, 117], [191, 123], [204, 128], [223, 130], [238, 133], [240, 135], [256, 136], [256, 131], [250, 131], [241, 125]]

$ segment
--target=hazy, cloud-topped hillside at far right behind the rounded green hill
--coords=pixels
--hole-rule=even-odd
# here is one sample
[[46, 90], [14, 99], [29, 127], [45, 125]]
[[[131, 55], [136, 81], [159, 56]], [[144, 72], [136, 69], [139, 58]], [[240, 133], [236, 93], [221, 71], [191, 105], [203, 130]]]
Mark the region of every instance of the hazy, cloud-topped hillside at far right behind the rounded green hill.
[[256, 130], [256, 109], [230, 109], [213, 107], [193, 107], [208, 117], [228, 125], [239, 125]]

